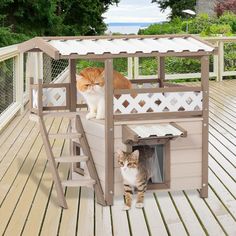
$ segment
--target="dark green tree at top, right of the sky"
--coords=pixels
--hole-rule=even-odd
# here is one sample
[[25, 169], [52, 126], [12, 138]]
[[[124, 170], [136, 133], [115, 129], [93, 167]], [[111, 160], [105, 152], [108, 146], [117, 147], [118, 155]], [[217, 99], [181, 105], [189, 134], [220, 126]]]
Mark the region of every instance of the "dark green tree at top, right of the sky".
[[170, 19], [176, 17], [186, 18], [186, 14], [182, 11], [185, 9], [195, 10], [196, 0], [152, 0], [152, 3], [157, 3], [162, 12], [168, 7], [171, 9]]

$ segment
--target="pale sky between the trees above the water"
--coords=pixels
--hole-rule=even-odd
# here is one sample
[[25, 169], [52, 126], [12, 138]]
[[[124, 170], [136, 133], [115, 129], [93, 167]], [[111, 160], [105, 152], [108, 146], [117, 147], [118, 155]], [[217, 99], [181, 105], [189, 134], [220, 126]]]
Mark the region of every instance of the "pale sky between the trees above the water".
[[156, 3], [151, 0], [121, 0], [118, 4], [110, 6], [103, 15], [105, 22], [158, 22], [167, 19], [170, 10], [164, 13]]

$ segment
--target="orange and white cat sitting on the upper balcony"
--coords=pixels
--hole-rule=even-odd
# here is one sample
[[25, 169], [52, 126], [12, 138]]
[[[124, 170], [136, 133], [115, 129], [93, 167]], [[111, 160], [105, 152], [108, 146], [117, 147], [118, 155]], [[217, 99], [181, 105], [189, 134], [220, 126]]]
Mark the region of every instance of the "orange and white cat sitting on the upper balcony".
[[[105, 118], [104, 68], [89, 67], [83, 69], [76, 77], [77, 90], [84, 96], [89, 113], [87, 119]], [[130, 89], [131, 82], [117, 71], [113, 71], [114, 89]]]

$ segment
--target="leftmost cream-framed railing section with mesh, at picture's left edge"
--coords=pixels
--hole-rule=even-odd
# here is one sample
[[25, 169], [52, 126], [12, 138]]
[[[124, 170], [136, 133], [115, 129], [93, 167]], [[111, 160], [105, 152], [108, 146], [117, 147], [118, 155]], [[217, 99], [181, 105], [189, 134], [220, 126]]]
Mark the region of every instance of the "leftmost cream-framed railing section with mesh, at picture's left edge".
[[24, 108], [23, 54], [17, 45], [0, 49], [0, 130]]

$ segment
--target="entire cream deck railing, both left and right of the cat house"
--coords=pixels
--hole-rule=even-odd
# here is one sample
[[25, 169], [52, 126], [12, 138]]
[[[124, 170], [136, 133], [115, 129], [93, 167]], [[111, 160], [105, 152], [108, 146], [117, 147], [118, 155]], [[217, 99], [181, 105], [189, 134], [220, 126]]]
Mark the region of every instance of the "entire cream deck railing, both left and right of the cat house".
[[[222, 81], [223, 77], [236, 76], [235, 70], [226, 71], [224, 68], [226, 60], [224, 45], [236, 43], [236, 37], [204, 39], [218, 47], [218, 54], [213, 57], [213, 71], [210, 72], [210, 77], [215, 77], [216, 81]], [[43, 78], [45, 83], [61, 83], [68, 77], [67, 66], [68, 61], [54, 61], [40, 52], [23, 55], [18, 52], [17, 45], [0, 48], [0, 131], [18, 112], [23, 111], [24, 105], [29, 99], [30, 77], [33, 77], [35, 81]], [[140, 75], [138, 58], [128, 58], [129, 78], [143, 79], [153, 78], [153, 76], [157, 75]], [[200, 78], [200, 72], [166, 75], [167, 80], [186, 78]]]

